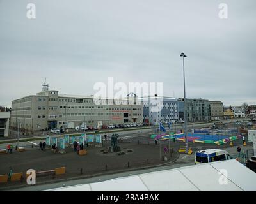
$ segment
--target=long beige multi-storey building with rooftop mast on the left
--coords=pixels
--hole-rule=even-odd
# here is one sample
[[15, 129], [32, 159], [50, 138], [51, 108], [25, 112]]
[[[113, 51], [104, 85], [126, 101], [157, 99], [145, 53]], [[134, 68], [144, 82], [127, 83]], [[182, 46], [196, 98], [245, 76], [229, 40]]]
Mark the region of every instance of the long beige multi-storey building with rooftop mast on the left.
[[95, 104], [93, 96], [61, 95], [56, 90], [43, 87], [42, 92], [12, 101], [11, 129], [24, 134], [51, 128], [74, 128], [109, 124], [143, 122], [143, 106], [136, 96], [127, 96], [116, 103], [113, 99], [100, 99]]

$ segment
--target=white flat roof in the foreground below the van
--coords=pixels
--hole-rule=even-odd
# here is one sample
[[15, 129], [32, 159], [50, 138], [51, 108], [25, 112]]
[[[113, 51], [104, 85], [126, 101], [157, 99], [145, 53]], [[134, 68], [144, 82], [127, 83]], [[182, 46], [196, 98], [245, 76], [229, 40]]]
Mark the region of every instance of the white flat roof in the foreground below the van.
[[232, 159], [47, 191], [256, 191], [255, 184], [256, 173]]

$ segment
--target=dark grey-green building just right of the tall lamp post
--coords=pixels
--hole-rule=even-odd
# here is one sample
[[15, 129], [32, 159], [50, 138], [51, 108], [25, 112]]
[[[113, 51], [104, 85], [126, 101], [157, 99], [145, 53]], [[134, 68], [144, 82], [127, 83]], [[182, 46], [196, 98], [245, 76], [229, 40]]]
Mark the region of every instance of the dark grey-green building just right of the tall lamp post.
[[[184, 102], [184, 98], [180, 98], [179, 101]], [[205, 100], [202, 98], [186, 98], [186, 110], [188, 115], [188, 122], [200, 122], [211, 120], [211, 107], [209, 100]]]

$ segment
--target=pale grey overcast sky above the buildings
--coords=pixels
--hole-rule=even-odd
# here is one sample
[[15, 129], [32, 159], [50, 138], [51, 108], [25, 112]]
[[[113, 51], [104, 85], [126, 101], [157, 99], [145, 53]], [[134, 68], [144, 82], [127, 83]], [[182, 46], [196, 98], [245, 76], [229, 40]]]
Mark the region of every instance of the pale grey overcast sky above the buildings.
[[114, 77], [180, 98], [180, 52], [188, 98], [255, 104], [255, 19], [255, 0], [0, 0], [0, 105], [40, 92], [44, 77], [60, 94], [94, 94]]

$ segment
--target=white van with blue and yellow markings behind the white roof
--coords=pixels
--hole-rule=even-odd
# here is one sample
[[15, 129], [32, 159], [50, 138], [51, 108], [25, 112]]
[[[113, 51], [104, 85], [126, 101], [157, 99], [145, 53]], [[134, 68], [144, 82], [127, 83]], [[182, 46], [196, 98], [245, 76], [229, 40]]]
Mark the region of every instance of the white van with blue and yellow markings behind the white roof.
[[196, 152], [195, 164], [209, 163], [233, 159], [227, 151], [222, 149], [206, 149]]

